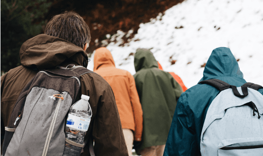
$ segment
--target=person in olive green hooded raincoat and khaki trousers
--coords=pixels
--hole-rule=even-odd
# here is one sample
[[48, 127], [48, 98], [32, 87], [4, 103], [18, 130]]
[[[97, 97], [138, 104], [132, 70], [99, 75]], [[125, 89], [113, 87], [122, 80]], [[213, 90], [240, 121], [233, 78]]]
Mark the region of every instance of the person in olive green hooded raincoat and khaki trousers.
[[181, 86], [158, 63], [148, 49], [137, 49], [134, 55], [136, 74], [133, 76], [143, 110], [143, 134], [134, 145], [142, 156], [163, 156], [165, 143]]

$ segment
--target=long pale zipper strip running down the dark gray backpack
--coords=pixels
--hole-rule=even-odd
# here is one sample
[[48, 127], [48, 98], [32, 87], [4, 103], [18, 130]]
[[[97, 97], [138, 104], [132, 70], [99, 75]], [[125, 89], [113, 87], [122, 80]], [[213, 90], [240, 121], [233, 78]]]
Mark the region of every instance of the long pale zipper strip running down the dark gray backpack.
[[[61, 97], [62, 97], [62, 94], [61, 94]], [[47, 134], [47, 137], [46, 137], [46, 142], [45, 142], [45, 146], [44, 146], [44, 150], [43, 150], [42, 156], [46, 156], [47, 155], [48, 146], [49, 146], [52, 134], [53, 134], [53, 130], [54, 130], [55, 123], [56, 123], [56, 117], [57, 117], [57, 114], [58, 114], [58, 109], [59, 109], [59, 106], [61, 104], [61, 101], [62, 101], [62, 98], [59, 98], [58, 103], [56, 105], [56, 110], [55, 110], [54, 116], [52, 118], [49, 130], [48, 130], [48, 134]]]

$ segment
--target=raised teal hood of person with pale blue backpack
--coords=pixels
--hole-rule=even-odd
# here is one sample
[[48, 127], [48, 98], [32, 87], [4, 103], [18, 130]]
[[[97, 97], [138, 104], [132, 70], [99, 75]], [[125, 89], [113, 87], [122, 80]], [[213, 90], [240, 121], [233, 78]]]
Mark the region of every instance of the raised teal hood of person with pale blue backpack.
[[229, 48], [220, 47], [212, 51], [204, 69], [203, 78], [207, 80], [223, 76], [243, 78], [243, 73]]

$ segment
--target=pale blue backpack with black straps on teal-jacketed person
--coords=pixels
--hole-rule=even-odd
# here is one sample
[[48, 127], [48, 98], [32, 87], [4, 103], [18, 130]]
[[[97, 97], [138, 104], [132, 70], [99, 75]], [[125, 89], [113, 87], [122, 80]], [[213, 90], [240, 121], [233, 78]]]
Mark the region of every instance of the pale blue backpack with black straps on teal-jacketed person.
[[202, 129], [202, 156], [263, 156], [263, 88], [241, 87], [218, 79], [204, 80], [220, 93], [210, 104]]

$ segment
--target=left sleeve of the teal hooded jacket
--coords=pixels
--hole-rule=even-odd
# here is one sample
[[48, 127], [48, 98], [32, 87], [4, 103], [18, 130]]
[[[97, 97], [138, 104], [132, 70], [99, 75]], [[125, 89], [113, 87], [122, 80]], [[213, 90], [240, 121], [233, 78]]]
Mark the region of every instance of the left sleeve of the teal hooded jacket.
[[177, 103], [167, 138], [164, 156], [200, 156], [194, 128], [194, 116], [186, 108], [183, 94]]

